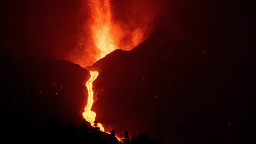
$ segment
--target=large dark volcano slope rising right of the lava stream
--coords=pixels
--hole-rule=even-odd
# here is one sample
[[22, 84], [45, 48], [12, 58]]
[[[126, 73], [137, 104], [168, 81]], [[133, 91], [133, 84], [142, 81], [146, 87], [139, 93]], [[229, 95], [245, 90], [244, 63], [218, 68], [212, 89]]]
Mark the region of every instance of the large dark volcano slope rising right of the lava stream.
[[247, 135], [241, 131], [248, 133], [242, 126], [248, 107], [237, 105], [250, 105], [249, 94], [241, 100], [245, 87], [236, 89], [225, 74], [233, 73], [225, 68], [229, 61], [222, 65], [206, 49], [163, 25], [131, 51], [100, 59], [89, 68], [100, 73], [93, 84], [96, 119], [106, 130], [146, 133], [164, 143], [230, 142]]

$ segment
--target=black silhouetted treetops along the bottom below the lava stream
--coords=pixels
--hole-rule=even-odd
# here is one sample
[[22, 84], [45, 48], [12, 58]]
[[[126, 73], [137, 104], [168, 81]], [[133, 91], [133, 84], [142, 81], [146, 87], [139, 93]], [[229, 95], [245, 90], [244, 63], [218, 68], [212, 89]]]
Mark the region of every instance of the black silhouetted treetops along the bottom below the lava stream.
[[[4, 129], [5, 137], [15, 137], [14, 142], [50, 142], [50, 143], [87, 143], [87, 144], [160, 144], [160, 141], [150, 140], [145, 134], [140, 134], [136, 139], [133, 136], [132, 140], [128, 136], [128, 131], [125, 130], [120, 141], [117, 139], [114, 129], [107, 134], [100, 131], [98, 122], [94, 121], [91, 126], [87, 121], [83, 121], [81, 126], [77, 128], [72, 123], [61, 123], [59, 117], [48, 117], [45, 125], [29, 126], [26, 122], [19, 123], [19, 126]], [[119, 136], [120, 136], [119, 135]]]

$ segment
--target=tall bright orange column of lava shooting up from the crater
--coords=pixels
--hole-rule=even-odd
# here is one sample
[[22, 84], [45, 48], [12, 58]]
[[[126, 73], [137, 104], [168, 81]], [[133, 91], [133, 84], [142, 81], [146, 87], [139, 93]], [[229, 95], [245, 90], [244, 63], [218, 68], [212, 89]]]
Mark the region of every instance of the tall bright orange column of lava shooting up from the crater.
[[109, 0], [91, 1], [91, 33], [94, 40], [94, 46], [98, 48], [96, 60], [105, 57], [110, 52], [118, 49], [118, 37], [112, 24], [112, 14]]

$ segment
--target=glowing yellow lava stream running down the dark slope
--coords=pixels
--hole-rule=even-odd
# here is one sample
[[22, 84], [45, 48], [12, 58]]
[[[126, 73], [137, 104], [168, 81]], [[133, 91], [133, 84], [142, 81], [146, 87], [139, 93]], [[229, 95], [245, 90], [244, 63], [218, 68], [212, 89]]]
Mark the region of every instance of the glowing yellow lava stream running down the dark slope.
[[[92, 105], [94, 103], [93, 101], [93, 81], [98, 77], [99, 73], [97, 71], [90, 71], [90, 79], [86, 82], [86, 87], [88, 90], [88, 100], [87, 100], [87, 105], [84, 108], [84, 112], [82, 113], [84, 119], [88, 122], [91, 123], [91, 125], [93, 126], [94, 121], [95, 121], [95, 117], [96, 117], [96, 113], [94, 111], [91, 111], [92, 109]], [[104, 131], [104, 128], [102, 126], [101, 123], [98, 123], [98, 127], [100, 127], [101, 131]]]

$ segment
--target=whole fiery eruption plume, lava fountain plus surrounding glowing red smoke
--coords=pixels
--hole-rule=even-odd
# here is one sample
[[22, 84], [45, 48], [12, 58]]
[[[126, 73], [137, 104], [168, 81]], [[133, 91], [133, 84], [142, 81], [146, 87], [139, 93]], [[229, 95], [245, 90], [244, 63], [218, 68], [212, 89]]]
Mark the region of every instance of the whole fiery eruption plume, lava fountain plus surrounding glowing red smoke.
[[[142, 4], [147, 7], [141, 7]], [[120, 9], [120, 6], [125, 9]], [[80, 15], [86, 15], [83, 31], [77, 33], [77, 47], [65, 53], [64, 59], [88, 67], [116, 49], [133, 49], [149, 36], [152, 29], [148, 26], [159, 13], [158, 7], [144, 0], [84, 1], [80, 12]]]

